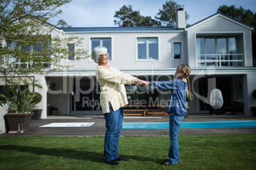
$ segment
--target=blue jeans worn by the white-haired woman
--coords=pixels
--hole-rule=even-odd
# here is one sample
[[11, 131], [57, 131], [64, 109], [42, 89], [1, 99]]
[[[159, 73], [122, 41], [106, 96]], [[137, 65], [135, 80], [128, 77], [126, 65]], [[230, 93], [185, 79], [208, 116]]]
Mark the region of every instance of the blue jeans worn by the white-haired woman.
[[115, 112], [110, 105], [110, 112], [104, 114], [106, 120], [106, 133], [104, 140], [104, 157], [105, 162], [117, 159], [119, 134], [123, 126], [123, 108], [119, 108]]

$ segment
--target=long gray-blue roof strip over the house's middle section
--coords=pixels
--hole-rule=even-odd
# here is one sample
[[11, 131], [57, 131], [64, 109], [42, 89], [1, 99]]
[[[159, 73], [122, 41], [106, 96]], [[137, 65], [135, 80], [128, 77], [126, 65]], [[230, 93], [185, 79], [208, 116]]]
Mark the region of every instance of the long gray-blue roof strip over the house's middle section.
[[64, 32], [124, 32], [124, 31], [182, 31], [176, 27], [68, 27], [58, 28]]

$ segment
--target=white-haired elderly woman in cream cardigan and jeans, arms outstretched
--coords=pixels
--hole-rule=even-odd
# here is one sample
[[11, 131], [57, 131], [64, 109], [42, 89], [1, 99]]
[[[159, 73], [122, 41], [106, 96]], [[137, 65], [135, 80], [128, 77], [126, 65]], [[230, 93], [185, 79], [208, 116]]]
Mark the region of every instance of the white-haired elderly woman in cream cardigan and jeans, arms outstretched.
[[128, 104], [124, 84], [145, 87], [149, 85], [149, 82], [108, 66], [107, 50], [101, 46], [94, 48], [92, 58], [99, 64], [96, 78], [101, 87], [100, 103], [107, 128], [104, 140], [105, 163], [114, 166], [119, 164], [117, 161], [128, 160], [118, 155], [118, 140], [123, 124], [123, 107]]

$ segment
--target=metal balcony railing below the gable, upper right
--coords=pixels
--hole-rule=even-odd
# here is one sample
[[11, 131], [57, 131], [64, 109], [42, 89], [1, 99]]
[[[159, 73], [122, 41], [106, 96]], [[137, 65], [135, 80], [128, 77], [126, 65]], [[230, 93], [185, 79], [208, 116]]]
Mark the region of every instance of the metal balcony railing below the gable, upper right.
[[197, 67], [244, 67], [243, 54], [197, 55]]

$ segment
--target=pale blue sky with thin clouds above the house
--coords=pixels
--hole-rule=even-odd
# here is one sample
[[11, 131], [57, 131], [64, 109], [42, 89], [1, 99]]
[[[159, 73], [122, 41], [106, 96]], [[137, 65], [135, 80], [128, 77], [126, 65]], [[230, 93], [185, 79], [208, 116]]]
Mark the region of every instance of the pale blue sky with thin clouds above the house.
[[[63, 11], [59, 18], [54, 18], [50, 23], [56, 24], [62, 19], [71, 27], [118, 27], [114, 24], [115, 11], [122, 6], [131, 5], [133, 11], [139, 11], [142, 16], [155, 15], [162, 10], [167, 0], [73, 0], [62, 6]], [[242, 6], [246, 10], [256, 13], [255, 0], [174, 0], [177, 4], [184, 5], [190, 25], [217, 13], [218, 7], [222, 5]]]

